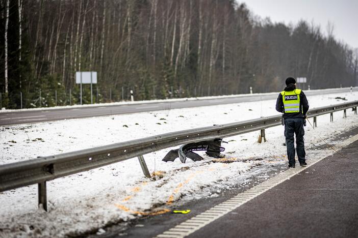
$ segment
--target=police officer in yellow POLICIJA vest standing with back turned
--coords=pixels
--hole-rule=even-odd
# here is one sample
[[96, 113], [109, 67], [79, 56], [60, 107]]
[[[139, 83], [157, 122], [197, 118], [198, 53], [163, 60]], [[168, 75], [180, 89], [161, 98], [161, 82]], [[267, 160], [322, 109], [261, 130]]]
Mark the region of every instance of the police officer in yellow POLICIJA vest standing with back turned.
[[304, 151], [303, 124], [309, 103], [304, 93], [296, 88], [296, 80], [292, 77], [286, 79], [286, 87], [277, 98], [276, 110], [284, 113], [285, 137], [289, 167], [295, 167], [295, 145], [293, 134], [296, 134], [296, 151], [299, 164], [306, 165]]

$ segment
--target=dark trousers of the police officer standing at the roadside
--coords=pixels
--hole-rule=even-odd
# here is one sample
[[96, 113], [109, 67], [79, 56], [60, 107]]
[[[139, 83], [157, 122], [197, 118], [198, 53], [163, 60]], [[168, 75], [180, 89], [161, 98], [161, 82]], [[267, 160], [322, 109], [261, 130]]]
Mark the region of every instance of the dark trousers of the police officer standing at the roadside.
[[303, 118], [287, 118], [285, 119], [285, 137], [287, 146], [287, 157], [289, 165], [295, 165], [295, 143], [293, 133], [296, 134], [296, 151], [300, 164], [305, 162], [306, 152], [304, 151], [304, 129]]

